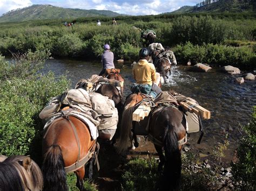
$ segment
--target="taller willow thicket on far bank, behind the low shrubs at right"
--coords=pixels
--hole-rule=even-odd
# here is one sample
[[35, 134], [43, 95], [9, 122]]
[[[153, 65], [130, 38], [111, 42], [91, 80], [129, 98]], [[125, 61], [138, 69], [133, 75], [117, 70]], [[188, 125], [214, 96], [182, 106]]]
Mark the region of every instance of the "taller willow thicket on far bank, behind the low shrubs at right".
[[253, 40], [255, 21], [228, 22], [211, 16], [181, 16], [173, 20], [172, 43], [203, 45], [218, 44], [224, 40]]

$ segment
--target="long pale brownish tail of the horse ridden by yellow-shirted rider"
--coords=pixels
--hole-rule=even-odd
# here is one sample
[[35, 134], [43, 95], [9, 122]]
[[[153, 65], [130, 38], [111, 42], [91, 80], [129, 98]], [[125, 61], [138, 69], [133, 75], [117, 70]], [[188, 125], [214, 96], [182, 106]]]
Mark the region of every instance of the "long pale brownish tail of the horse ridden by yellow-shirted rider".
[[135, 101], [127, 104], [124, 108], [122, 115], [122, 123], [120, 127], [120, 139], [117, 147], [117, 152], [122, 153], [127, 148], [127, 142], [129, 141], [129, 135], [132, 129], [132, 113], [134, 111]]

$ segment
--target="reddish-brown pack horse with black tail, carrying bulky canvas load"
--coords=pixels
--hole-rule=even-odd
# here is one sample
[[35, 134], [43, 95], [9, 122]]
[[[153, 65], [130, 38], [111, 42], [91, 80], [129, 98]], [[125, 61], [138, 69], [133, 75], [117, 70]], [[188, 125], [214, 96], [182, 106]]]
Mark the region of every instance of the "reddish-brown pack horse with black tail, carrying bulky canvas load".
[[44, 131], [42, 171], [44, 190], [69, 190], [66, 173], [75, 172], [77, 187], [83, 189], [85, 164], [93, 158], [96, 140], [80, 119], [68, 116], [55, 119]]

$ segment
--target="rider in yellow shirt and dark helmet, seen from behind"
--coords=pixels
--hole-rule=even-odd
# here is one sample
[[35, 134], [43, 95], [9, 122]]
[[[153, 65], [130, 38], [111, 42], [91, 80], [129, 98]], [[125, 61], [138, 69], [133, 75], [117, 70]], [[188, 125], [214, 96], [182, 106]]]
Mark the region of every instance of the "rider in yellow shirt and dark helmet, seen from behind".
[[[137, 84], [139, 84], [139, 90], [144, 94], [150, 94], [153, 97], [159, 93], [151, 91], [153, 81], [156, 80], [156, 68], [153, 63], [148, 62], [149, 60], [149, 50], [147, 48], [142, 48], [139, 51], [140, 60], [132, 68], [132, 75]], [[161, 90], [160, 90], [161, 91]]]

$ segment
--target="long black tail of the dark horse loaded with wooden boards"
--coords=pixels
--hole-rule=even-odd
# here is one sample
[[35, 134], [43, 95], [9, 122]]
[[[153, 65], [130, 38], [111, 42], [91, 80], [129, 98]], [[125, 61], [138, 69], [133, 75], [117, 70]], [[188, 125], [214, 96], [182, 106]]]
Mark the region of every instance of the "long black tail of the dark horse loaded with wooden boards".
[[164, 150], [166, 159], [164, 182], [168, 185], [168, 190], [176, 190], [180, 185], [181, 178], [181, 153], [179, 151], [177, 133], [169, 124], [165, 129]]

